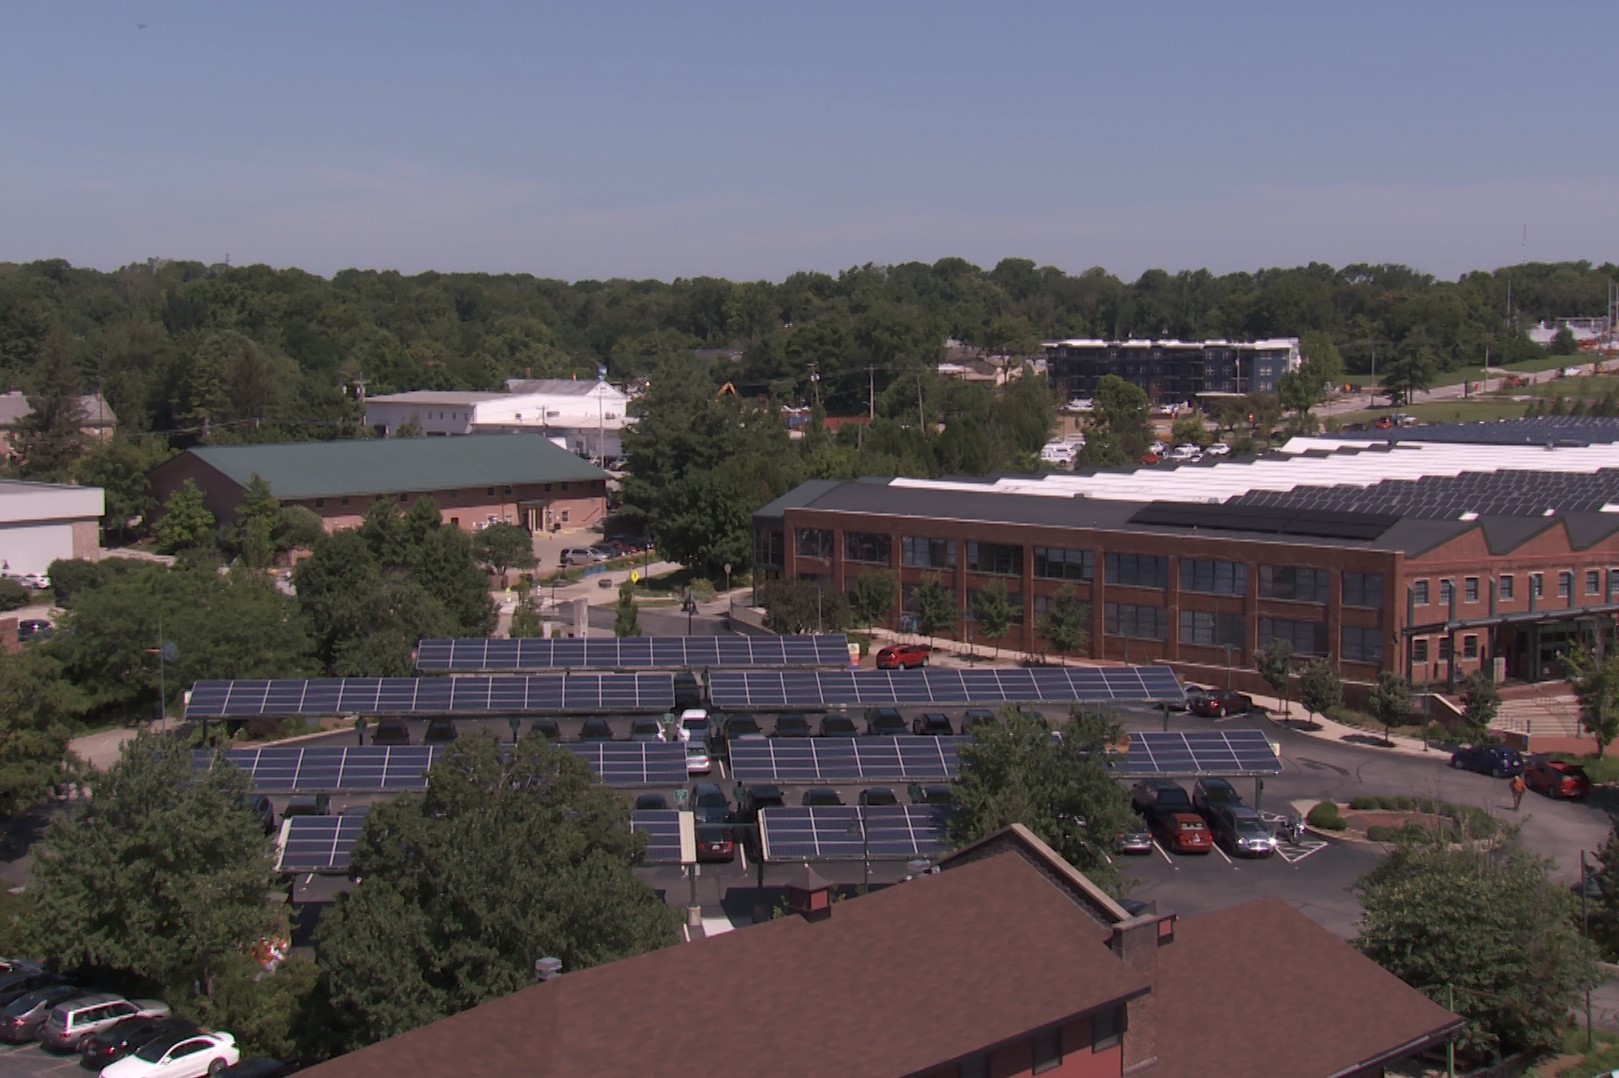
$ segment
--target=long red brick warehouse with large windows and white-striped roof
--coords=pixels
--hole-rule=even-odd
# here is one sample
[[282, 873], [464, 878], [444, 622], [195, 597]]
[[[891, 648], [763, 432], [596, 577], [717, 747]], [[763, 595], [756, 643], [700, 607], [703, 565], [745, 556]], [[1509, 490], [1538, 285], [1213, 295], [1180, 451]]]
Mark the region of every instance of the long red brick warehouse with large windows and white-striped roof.
[[1284, 636], [1352, 681], [1535, 681], [1619, 612], [1616, 442], [1619, 421], [1541, 419], [1093, 474], [811, 481], [754, 515], [754, 558], [829, 592], [894, 570], [892, 628], [928, 578], [963, 615], [1001, 581], [1018, 618], [996, 643], [1020, 651], [1044, 649], [1038, 620], [1072, 588], [1090, 657], [1205, 680], [1255, 685], [1253, 652]]

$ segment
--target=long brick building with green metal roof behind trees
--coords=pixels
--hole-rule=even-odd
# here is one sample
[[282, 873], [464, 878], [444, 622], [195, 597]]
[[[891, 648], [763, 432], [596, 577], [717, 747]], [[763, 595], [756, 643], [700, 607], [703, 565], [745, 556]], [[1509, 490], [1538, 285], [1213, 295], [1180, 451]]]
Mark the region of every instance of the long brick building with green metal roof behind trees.
[[580, 528], [607, 511], [607, 473], [538, 434], [204, 445], [154, 468], [152, 489], [167, 500], [191, 479], [225, 521], [253, 476], [283, 505], [316, 511], [327, 531], [353, 528], [379, 499], [406, 510], [432, 497], [447, 524], [468, 531]]

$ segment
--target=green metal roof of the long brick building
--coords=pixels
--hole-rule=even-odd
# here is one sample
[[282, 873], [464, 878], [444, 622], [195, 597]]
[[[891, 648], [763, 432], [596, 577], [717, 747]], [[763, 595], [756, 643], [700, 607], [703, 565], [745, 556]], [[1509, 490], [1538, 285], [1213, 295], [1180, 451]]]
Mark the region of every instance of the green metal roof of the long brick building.
[[607, 479], [606, 471], [539, 434], [202, 445], [186, 452], [241, 486], [257, 474], [282, 500]]

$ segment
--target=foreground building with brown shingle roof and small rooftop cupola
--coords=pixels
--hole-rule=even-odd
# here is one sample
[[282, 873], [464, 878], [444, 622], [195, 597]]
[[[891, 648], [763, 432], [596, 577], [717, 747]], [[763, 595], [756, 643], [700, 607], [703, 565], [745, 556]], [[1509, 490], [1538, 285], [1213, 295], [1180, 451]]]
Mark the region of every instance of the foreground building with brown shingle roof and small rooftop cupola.
[[793, 903], [309, 1073], [1363, 1078], [1462, 1025], [1284, 902], [1132, 916], [1022, 827], [839, 903], [805, 869]]

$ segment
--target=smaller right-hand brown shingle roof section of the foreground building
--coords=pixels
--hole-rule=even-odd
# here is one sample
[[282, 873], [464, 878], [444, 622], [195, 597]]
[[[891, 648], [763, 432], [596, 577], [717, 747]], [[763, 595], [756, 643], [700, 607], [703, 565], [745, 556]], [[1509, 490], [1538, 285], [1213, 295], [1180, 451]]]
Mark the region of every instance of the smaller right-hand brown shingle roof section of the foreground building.
[[1281, 898], [1182, 918], [1156, 973], [1153, 1078], [1355, 1073], [1462, 1025]]

